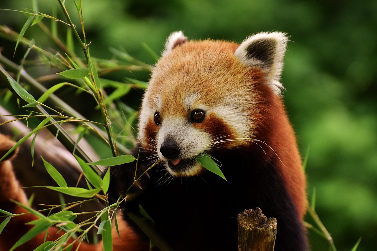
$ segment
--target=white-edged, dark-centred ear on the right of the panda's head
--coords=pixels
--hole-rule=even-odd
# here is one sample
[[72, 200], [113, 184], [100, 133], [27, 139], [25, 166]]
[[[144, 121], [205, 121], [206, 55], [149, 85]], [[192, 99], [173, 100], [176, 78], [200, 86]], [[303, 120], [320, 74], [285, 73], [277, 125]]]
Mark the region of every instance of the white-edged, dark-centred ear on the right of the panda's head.
[[267, 73], [268, 85], [280, 94], [284, 86], [280, 83], [283, 70], [283, 57], [287, 47], [287, 34], [282, 32], [262, 32], [246, 38], [234, 52], [242, 63], [258, 67]]

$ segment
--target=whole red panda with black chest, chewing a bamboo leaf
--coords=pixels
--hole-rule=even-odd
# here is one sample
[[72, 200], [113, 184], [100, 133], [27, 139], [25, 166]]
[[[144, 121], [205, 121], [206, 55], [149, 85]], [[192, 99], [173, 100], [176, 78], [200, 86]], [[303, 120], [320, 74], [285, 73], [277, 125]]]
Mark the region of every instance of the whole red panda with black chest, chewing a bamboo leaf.
[[[148, 239], [127, 216], [138, 212], [139, 205], [172, 250], [236, 250], [236, 216], [256, 207], [277, 219], [275, 250], [309, 249], [302, 222], [305, 175], [281, 96], [287, 41], [280, 32], [251, 35], [241, 44], [188, 41], [182, 32], [170, 35], [144, 94], [140, 148], [134, 151], [140, 173], [160, 163], [121, 205], [121, 239], [113, 234], [113, 250], [148, 250]], [[202, 153], [221, 163], [227, 181], [196, 161]], [[126, 195], [134, 176], [135, 162], [110, 167], [110, 202]], [[17, 180], [11, 183], [26, 203]], [[0, 194], [9, 191], [0, 188]], [[9, 198], [15, 199], [1, 200], [1, 209]], [[4, 233], [13, 233], [9, 228], [0, 243]], [[101, 243], [83, 243], [79, 250], [89, 249], [102, 250]]]

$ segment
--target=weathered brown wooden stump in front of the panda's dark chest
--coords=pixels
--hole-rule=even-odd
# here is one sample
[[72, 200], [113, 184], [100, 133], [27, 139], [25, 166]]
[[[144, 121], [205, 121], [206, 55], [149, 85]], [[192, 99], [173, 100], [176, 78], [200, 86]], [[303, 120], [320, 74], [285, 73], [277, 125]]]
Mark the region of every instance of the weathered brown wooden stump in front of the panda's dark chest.
[[273, 251], [277, 223], [262, 214], [260, 208], [238, 214], [238, 251]]

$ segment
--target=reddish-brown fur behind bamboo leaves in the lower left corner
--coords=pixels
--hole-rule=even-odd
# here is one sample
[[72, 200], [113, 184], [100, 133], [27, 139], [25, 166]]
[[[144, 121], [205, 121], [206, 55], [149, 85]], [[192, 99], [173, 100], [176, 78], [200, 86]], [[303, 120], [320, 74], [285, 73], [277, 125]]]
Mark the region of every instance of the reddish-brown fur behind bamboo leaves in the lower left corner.
[[[14, 146], [14, 142], [8, 136], [0, 134], [0, 158]], [[13, 157], [15, 154], [9, 155]], [[23, 205], [28, 205], [28, 199], [25, 192], [21, 188], [15, 173], [13, 171], [11, 158], [9, 160], [0, 162], [0, 209], [8, 211], [13, 214], [23, 214], [12, 217], [8, 222], [2, 233], [0, 234], [0, 251], [8, 251], [33, 225], [26, 225], [27, 222], [37, 220], [37, 216], [29, 213], [29, 211], [16, 205], [10, 200], [15, 200]], [[0, 217], [0, 223], [6, 217]], [[121, 238], [118, 238], [116, 229], [113, 228], [113, 251], [142, 251], [147, 250], [148, 243], [141, 241], [123, 220], [118, 221]], [[48, 230], [46, 241], [56, 240], [64, 234], [57, 227], [50, 227]], [[35, 236], [29, 242], [21, 245], [16, 251], [32, 251], [44, 242], [46, 236], [45, 231]], [[67, 245], [74, 240], [70, 239]], [[78, 242], [74, 243], [72, 250], [76, 250]], [[127, 247], [127, 248], [126, 248]], [[81, 242], [79, 251], [101, 251], [102, 242], [98, 245], [91, 245], [86, 242]]]

